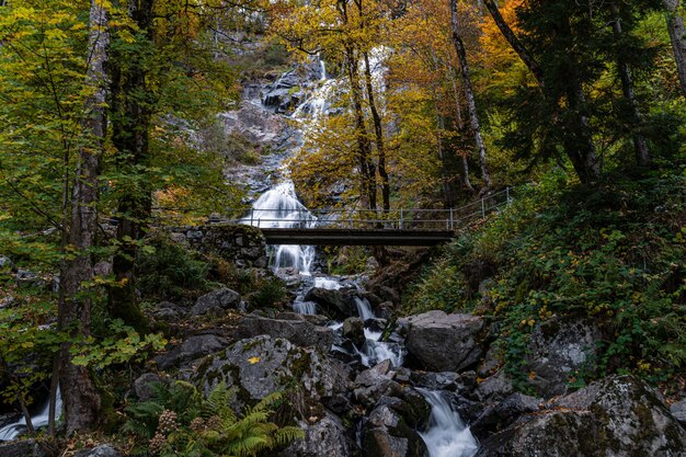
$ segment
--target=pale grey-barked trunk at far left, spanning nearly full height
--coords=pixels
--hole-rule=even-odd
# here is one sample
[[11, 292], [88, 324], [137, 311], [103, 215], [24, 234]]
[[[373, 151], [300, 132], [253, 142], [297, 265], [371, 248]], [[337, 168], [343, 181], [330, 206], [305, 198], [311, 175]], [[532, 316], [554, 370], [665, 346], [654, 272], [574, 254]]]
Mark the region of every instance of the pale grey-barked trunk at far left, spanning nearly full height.
[[[93, 247], [98, 230], [98, 180], [100, 160], [105, 138], [107, 15], [98, 2], [91, 0], [89, 49], [91, 58], [87, 79], [94, 88], [85, 101], [82, 129], [85, 145], [79, 149], [78, 168], [75, 176], [71, 228], [69, 243], [73, 256], [62, 263], [60, 272], [59, 328], [72, 336], [88, 336], [91, 324], [91, 290], [83, 283], [93, 278], [93, 265], [89, 250]], [[60, 386], [65, 399], [67, 434], [90, 430], [95, 425], [100, 412], [100, 397], [90, 378], [88, 368], [71, 363], [69, 344], [61, 349]]]

